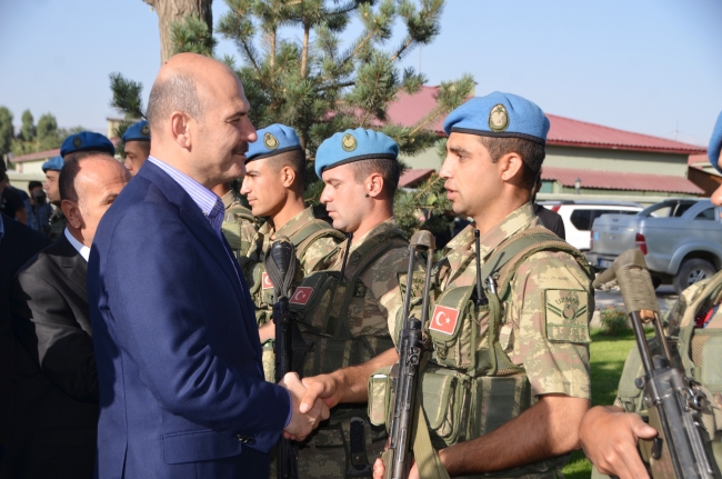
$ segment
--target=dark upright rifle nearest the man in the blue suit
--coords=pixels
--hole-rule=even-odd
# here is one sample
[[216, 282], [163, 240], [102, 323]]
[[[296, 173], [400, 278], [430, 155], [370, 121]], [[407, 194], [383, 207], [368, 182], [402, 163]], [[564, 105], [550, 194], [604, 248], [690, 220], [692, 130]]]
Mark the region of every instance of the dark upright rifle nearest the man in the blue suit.
[[[297, 268], [295, 248], [287, 237], [279, 237], [269, 249], [265, 257], [265, 270], [273, 283], [273, 322], [275, 323], [275, 382], [287, 372], [291, 372], [293, 360], [293, 335], [289, 298]], [[298, 446], [289, 440], [279, 440], [277, 472], [279, 479], [299, 477]]]

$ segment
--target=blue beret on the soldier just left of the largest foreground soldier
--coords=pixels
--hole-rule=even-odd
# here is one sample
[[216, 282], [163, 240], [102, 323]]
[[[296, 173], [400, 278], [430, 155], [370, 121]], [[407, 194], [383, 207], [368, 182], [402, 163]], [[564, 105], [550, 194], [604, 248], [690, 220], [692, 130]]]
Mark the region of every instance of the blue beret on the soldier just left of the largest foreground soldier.
[[315, 174], [324, 170], [359, 160], [387, 158], [395, 160], [399, 146], [388, 136], [373, 130], [357, 128], [338, 132], [324, 140], [315, 153]]

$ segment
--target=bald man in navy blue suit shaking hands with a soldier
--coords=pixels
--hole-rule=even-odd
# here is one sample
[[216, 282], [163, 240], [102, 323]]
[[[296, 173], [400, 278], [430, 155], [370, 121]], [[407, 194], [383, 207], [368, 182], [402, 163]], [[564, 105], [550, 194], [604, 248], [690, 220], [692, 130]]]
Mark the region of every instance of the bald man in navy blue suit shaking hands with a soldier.
[[[227, 66], [172, 57], [148, 102], [151, 156], [102, 219], [88, 268], [100, 478], [268, 478], [281, 431], [308, 436], [293, 373], [265, 382], [253, 303], [211, 189], [257, 139]], [[141, 245], [142, 248], [138, 248]], [[308, 412], [308, 413], [307, 413]]]

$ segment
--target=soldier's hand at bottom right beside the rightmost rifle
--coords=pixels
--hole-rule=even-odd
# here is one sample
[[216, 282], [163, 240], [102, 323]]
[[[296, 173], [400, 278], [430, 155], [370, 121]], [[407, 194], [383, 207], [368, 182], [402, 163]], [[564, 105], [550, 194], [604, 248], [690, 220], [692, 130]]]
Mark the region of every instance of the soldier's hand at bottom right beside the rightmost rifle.
[[639, 416], [621, 408], [596, 406], [584, 415], [579, 436], [586, 457], [596, 469], [620, 479], [646, 479], [636, 443], [639, 439], [652, 439], [656, 430]]

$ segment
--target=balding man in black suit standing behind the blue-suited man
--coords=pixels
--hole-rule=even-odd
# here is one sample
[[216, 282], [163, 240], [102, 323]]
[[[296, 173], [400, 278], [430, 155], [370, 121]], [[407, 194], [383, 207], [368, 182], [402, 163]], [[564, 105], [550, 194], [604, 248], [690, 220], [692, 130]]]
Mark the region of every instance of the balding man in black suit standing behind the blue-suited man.
[[17, 342], [8, 476], [92, 478], [98, 375], [88, 312], [88, 256], [98, 222], [129, 181], [106, 153], [84, 153], [60, 171], [64, 233], [10, 283]]

